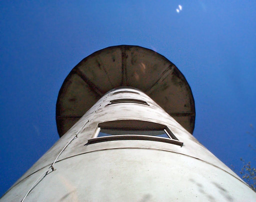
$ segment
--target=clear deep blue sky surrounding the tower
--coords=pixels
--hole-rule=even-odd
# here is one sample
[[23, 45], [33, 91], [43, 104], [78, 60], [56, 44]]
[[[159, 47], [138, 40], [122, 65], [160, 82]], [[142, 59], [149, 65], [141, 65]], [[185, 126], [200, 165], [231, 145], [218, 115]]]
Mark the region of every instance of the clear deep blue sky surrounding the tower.
[[255, 1], [20, 0], [0, 9], [0, 195], [59, 139], [55, 105], [71, 69], [120, 44], [172, 61], [194, 95], [194, 136], [228, 166], [240, 170], [240, 157], [255, 166]]

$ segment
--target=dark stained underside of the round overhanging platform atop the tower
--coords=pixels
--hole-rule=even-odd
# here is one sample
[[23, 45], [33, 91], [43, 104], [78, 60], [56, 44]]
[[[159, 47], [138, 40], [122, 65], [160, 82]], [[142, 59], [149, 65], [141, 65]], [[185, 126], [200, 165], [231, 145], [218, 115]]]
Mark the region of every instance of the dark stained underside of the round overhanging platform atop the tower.
[[183, 74], [153, 50], [121, 45], [84, 58], [65, 79], [56, 104], [60, 137], [103, 94], [118, 86], [132, 86], [145, 92], [183, 128], [193, 133], [195, 103]]

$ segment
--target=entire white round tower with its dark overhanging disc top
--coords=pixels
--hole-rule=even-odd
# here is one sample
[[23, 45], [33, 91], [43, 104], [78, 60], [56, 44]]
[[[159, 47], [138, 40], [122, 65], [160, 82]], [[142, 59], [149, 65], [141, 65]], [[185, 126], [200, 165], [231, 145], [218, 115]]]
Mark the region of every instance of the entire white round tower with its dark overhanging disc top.
[[0, 202], [256, 200], [193, 137], [189, 84], [150, 49], [113, 46], [84, 58], [60, 88], [56, 123], [60, 139]]

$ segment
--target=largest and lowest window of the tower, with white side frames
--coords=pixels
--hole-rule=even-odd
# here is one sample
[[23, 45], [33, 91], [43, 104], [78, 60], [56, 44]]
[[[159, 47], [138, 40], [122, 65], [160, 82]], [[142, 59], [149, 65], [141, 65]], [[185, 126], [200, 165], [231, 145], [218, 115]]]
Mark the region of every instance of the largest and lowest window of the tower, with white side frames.
[[100, 123], [87, 144], [114, 140], [150, 140], [183, 146], [183, 142], [180, 142], [167, 126], [140, 120]]

